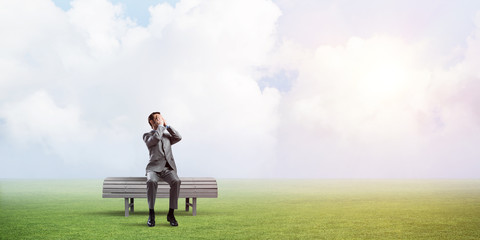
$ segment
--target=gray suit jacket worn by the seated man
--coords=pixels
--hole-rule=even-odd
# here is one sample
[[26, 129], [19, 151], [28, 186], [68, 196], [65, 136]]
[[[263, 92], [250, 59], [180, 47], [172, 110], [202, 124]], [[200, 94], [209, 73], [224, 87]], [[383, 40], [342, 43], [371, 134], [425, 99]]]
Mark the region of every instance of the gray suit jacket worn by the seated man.
[[150, 152], [150, 162], [145, 169], [146, 172], [161, 172], [167, 162], [177, 172], [171, 146], [182, 140], [182, 137], [174, 128], [166, 128], [168, 133], [164, 132], [165, 128], [158, 126], [157, 130], [143, 134], [143, 141], [147, 144]]

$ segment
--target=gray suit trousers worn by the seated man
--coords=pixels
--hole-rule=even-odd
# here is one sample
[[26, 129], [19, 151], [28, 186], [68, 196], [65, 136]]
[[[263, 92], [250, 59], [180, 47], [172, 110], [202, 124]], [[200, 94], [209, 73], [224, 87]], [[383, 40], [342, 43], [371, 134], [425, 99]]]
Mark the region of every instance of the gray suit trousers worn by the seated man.
[[158, 181], [165, 181], [170, 185], [170, 208], [178, 208], [178, 196], [180, 194], [180, 178], [171, 168], [165, 167], [161, 172], [147, 172], [147, 199], [148, 208], [153, 209], [157, 198]]

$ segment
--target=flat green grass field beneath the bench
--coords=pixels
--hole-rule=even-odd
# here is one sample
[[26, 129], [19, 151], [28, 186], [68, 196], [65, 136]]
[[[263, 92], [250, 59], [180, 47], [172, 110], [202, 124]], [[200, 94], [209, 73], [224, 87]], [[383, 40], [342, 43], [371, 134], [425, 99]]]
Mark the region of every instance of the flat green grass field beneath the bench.
[[[0, 239], [480, 239], [480, 180], [218, 180], [197, 216], [148, 228], [102, 180], [0, 180]], [[179, 200], [180, 206], [184, 199]]]

